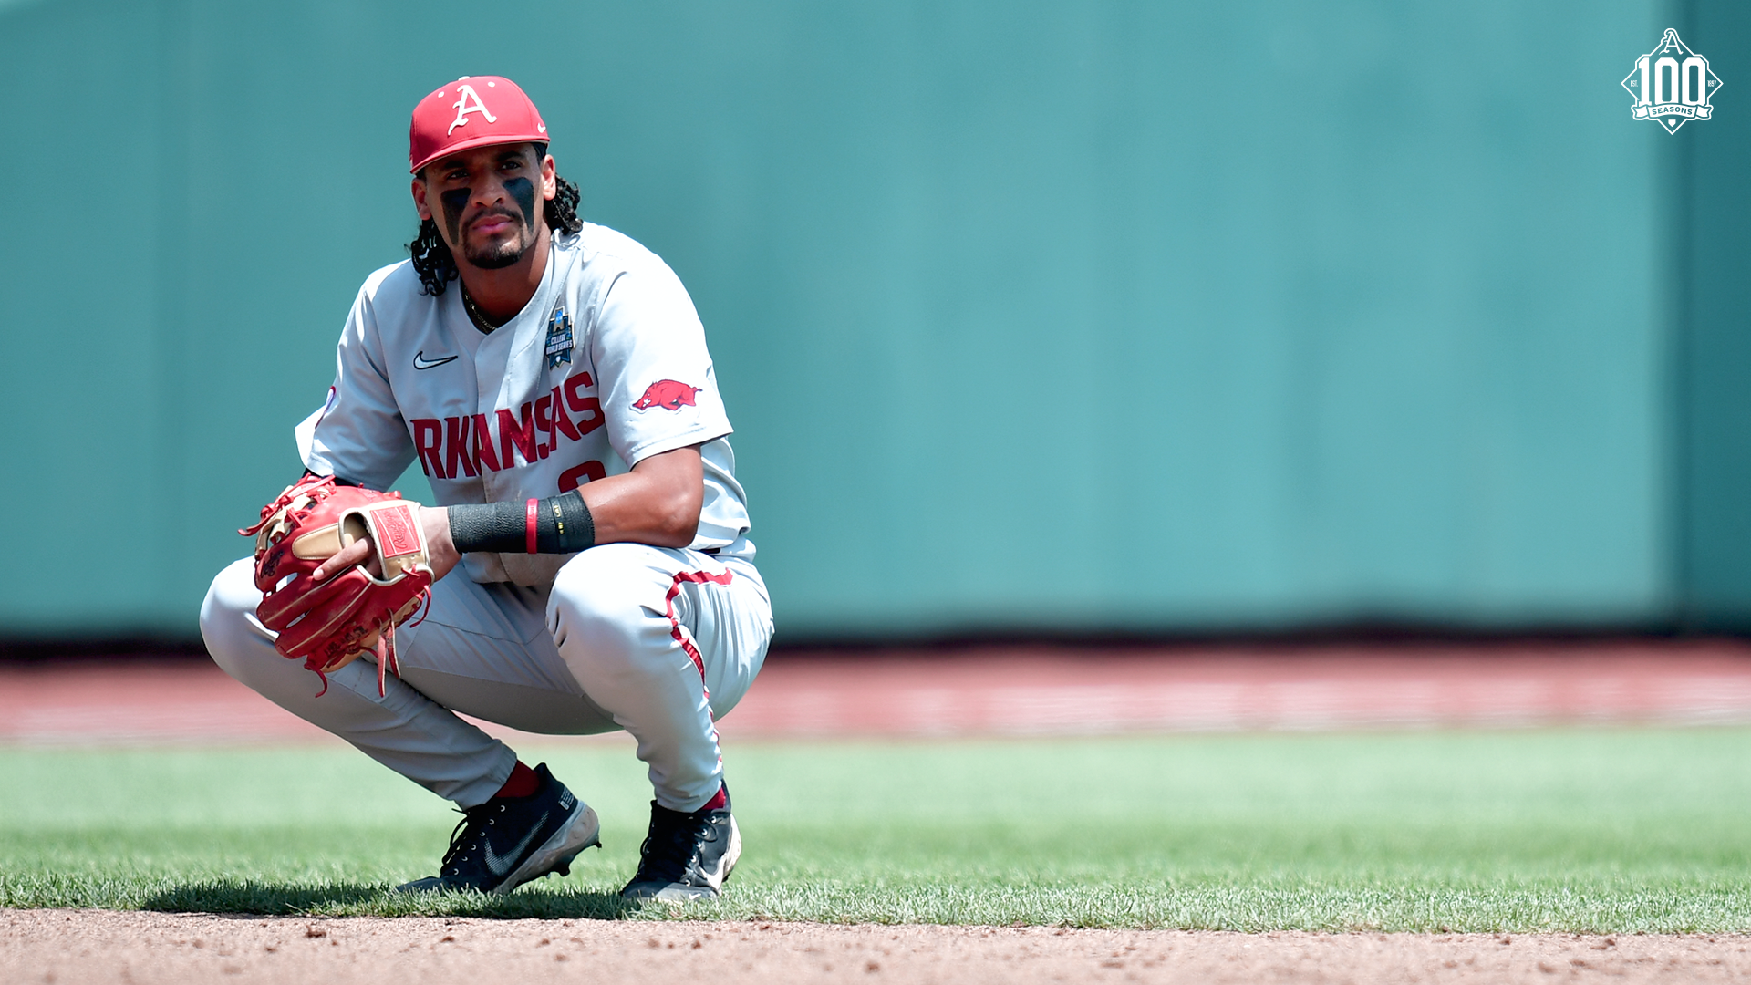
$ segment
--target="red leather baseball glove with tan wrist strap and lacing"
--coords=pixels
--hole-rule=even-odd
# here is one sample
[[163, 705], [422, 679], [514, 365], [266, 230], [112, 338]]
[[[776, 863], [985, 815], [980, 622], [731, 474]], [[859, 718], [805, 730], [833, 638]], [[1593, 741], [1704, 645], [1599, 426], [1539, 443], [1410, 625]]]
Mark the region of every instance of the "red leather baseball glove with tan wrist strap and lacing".
[[[399, 492], [338, 485], [333, 477], [306, 475], [261, 508], [261, 522], [240, 529], [256, 536], [256, 617], [278, 633], [273, 648], [303, 657], [322, 678], [364, 654], [376, 655], [376, 689], [396, 664], [396, 626], [429, 598], [420, 507]], [[324, 561], [369, 535], [382, 577], [355, 564], [322, 582], [310, 578]]]

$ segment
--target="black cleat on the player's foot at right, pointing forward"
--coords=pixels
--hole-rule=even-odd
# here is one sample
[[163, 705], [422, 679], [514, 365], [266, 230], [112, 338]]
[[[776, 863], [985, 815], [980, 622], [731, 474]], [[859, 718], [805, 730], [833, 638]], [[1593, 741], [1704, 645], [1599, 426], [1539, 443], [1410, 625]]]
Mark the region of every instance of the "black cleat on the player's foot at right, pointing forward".
[[723, 806], [714, 810], [681, 813], [651, 801], [651, 829], [639, 847], [639, 871], [620, 896], [665, 903], [711, 899], [741, 854], [742, 836], [730, 817], [728, 787]]

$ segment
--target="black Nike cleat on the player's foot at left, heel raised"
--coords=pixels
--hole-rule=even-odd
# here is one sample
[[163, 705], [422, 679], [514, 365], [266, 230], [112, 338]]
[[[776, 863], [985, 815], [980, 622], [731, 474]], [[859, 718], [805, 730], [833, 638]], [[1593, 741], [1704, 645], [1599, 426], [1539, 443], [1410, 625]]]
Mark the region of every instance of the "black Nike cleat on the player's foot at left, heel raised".
[[548, 873], [569, 875], [580, 852], [602, 843], [602, 826], [546, 762], [536, 766], [536, 776], [541, 787], [527, 797], [494, 797], [462, 811], [438, 875], [396, 889], [503, 894]]

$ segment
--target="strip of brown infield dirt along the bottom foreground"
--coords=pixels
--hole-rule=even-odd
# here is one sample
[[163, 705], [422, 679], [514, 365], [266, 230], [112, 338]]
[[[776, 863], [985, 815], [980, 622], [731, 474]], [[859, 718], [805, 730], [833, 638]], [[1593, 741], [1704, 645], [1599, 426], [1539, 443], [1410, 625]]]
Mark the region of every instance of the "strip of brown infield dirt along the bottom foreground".
[[0, 981], [1742, 981], [1746, 936], [1227, 934], [0, 911]]

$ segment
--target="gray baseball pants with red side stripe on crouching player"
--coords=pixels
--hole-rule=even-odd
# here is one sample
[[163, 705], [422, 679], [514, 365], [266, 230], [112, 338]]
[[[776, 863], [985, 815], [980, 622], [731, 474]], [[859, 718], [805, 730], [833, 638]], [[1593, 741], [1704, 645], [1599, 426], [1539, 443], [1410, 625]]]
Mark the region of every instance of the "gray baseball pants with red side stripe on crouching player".
[[490, 799], [517, 754], [455, 712], [529, 733], [625, 729], [657, 803], [700, 808], [723, 780], [714, 720], [748, 692], [772, 640], [753, 563], [608, 543], [566, 563], [552, 589], [480, 584], [457, 568], [432, 585], [425, 619], [396, 631], [401, 678], [385, 694], [361, 659], [317, 698], [322, 682], [275, 652], [259, 601], [252, 559], [214, 578], [201, 605], [214, 663], [462, 808]]

